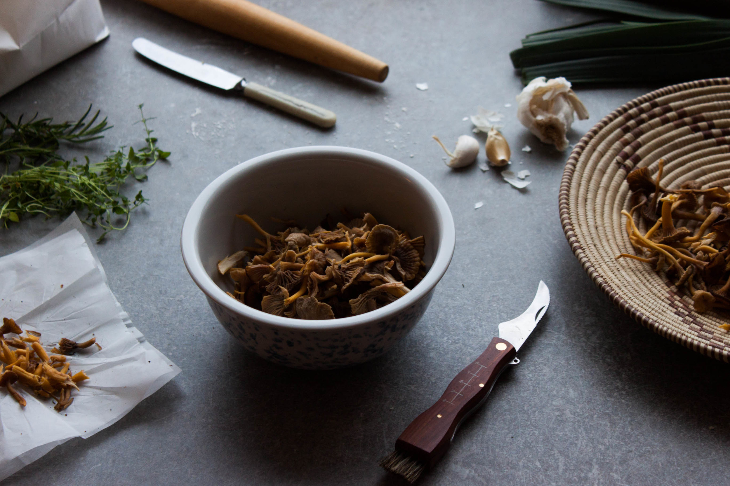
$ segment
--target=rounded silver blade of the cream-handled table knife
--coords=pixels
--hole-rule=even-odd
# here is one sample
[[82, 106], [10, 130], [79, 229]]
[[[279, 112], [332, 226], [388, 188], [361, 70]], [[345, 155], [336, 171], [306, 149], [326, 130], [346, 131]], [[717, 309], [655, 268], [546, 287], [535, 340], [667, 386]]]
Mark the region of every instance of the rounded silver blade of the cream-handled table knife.
[[192, 77], [193, 80], [204, 82], [216, 88], [231, 90], [236, 88], [239, 82], [243, 81], [243, 78], [236, 74], [231, 74], [219, 67], [212, 66], [212, 64], [206, 64], [188, 58], [185, 55], [173, 53], [172, 50], [156, 45], [144, 37], [134, 39], [132, 41], [132, 47], [150, 61], [154, 61], [161, 66], [165, 66], [167, 69], [185, 74], [187, 77]]

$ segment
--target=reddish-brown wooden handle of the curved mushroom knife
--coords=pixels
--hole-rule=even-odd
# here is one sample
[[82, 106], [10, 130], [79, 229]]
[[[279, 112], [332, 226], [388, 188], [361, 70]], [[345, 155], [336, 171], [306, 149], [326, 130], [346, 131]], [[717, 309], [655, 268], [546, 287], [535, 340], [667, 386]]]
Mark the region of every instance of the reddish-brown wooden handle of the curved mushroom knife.
[[434, 466], [448, 449], [458, 425], [483, 403], [516, 354], [510, 342], [492, 339], [480, 357], [450, 382], [439, 401], [401, 433], [396, 450], [406, 452], [429, 468]]

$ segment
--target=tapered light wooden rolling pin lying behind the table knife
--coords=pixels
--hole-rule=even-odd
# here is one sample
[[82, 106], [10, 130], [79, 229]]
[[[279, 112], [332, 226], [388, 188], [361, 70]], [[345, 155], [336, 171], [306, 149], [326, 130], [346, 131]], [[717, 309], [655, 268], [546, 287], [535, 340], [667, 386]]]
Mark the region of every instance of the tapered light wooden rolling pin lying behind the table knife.
[[338, 71], [383, 82], [388, 64], [246, 0], [142, 0], [230, 36]]

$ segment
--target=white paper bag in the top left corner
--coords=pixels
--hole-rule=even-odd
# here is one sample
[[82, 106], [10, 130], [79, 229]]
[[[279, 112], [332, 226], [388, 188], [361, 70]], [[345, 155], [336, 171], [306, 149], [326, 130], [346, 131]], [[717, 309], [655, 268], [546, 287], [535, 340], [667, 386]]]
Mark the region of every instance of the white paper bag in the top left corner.
[[0, 0], [0, 96], [108, 35], [99, 0]]

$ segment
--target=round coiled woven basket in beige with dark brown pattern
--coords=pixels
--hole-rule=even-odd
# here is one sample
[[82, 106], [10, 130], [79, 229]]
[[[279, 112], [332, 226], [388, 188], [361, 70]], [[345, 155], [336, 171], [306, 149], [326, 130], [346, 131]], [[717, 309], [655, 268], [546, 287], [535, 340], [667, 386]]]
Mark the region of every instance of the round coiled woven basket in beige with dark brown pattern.
[[[730, 333], [718, 325], [727, 315], [699, 314], [683, 288], [663, 272], [629, 258], [626, 234], [629, 185], [626, 174], [648, 167], [661, 183], [679, 188], [686, 180], [730, 189], [730, 78], [668, 86], [629, 101], [596, 124], [570, 155], [560, 186], [560, 219], [571, 249], [593, 282], [623, 312], [685, 347], [730, 362]], [[648, 228], [639, 224], [644, 233]], [[696, 223], [679, 225], [693, 228]]]

